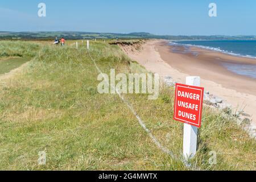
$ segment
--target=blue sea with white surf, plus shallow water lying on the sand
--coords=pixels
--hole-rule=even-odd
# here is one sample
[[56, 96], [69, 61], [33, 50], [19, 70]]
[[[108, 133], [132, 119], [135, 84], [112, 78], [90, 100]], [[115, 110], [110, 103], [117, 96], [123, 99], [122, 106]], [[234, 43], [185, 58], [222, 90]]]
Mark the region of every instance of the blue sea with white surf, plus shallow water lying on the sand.
[[[256, 79], [256, 40], [179, 40], [171, 41], [170, 46], [183, 46], [185, 52], [189, 52], [189, 47], [195, 46], [233, 56], [255, 59], [255, 64], [223, 63], [223, 66], [238, 75]], [[175, 52], [175, 49], [173, 51]], [[197, 54], [196, 52], [192, 53]]]

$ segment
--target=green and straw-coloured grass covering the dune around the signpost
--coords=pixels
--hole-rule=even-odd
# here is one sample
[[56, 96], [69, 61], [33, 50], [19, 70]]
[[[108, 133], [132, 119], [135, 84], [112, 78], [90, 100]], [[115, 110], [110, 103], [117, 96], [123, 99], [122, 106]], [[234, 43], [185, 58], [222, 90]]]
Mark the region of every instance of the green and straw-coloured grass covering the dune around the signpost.
[[[199, 152], [191, 167], [162, 152], [117, 94], [97, 92], [98, 72], [85, 45], [77, 50], [73, 42], [66, 47], [4, 44], [0, 43], [1, 52], [9, 52], [4, 56], [24, 49], [24, 55], [34, 59], [26, 69], [0, 82], [0, 169], [255, 169], [255, 140], [231, 118], [209, 108], [203, 112]], [[146, 72], [118, 46], [103, 42], [90, 46], [104, 73], [112, 68]], [[183, 125], [172, 119], [174, 90], [162, 86], [154, 101], [143, 94], [125, 98], [159, 142], [180, 157]], [[47, 154], [46, 166], [38, 165], [39, 151]], [[216, 165], [209, 164], [210, 151], [217, 152]]]

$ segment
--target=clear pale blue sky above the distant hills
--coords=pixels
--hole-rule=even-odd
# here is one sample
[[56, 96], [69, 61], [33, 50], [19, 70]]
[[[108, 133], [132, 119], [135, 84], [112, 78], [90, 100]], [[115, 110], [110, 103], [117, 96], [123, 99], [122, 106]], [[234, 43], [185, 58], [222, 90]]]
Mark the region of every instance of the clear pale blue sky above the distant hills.
[[[46, 3], [46, 17], [38, 4]], [[208, 15], [217, 4], [217, 17]], [[8, 0], [0, 31], [151, 32], [158, 35], [256, 35], [255, 0]]]

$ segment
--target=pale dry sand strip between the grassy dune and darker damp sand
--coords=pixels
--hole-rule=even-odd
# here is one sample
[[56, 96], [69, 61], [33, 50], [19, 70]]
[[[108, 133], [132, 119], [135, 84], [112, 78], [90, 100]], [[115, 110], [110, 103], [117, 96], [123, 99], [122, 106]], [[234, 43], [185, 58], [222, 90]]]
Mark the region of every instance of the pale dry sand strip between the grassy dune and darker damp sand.
[[[186, 60], [186, 57], [182, 56], [178, 53], [172, 53], [168, 52], [168, 55], [160, 55], [159, 53], [159, 44], [163, 43], [163, 40], [149, 40], [146, 42], [146, 44], [143, 45], [142, 50], [139, 52], [130, 52], [125, 51], [127, 55], [137, 61], [139, 64], [143, 65], [148, 71], [153, 73], [158, 73], [160, 77], [164, 78], [166, 76], [171, 76], [174, 81], [184, 83], [185, 77], [191, 76], [188, 75], [189, 73], [186, 73], [185, 70], [189, 68], [193, 68], [192, 61]], [[183, 68], [180, 67], [179, 71], [177, 69], [174, 69], [171, 66], [171, 63], [169, 64], [162, 59], [162, 57], [168, 56], [168, 59], [172, 59], [175, 61], [180, 61], [180, 65], [182, 65], [182, 61], [185, 61], [185, 64], [183, 64]], [[188, 59], [188, 58], [187, 58]], [[191, 65], [189, 65], [189, 63]], [[199, 66], [199, 65], [198, 65]], [[211, 65], [212, 66], [212, 65]], [[248, 80], [244, 80], [245, 82], [241, 82], [241, 80], [236, 80], [237, 77], [230, 77], [232, 80], [230, 82], [234, 82], [235, 84], [229, 87], [224, 87], [220, 84], [221, 79], [224, 78], [225, 73], [223, 73], [221, 76], [217, 76], [213, 80], [208, 80], [209, 72], [207, 69], [205, 69], [205, 65], [201, 65], [201, 69], [197, 69], [197, 72], [200, 72], [201, 77], [201, 86], [205, 88], [205, 90], [208, 90], [211, 94], [216, 95], [218, 97], [221, 97], [224, 99], [227, 103], [231, 104], [233, 106], [233, 110], [244, 110], [245, 113], [248, 113], [251, 115], [252, 119], [252, 125], [256, 126], [256, 93], [252, 94], [245, 93], [245, 92], [238, 92], [237, 90], [240, 90], [241, 84], [246, 84], [245, 82]], [[227, 76], [230, 73], [227, 73]], [[192, 76], [199, 76], [197, 74]], [[239, 76], [238, 76], [239, 77]], [[220, 79], [220, 80], [217, 80]], [[249, 80], [250, 81], [250, 80]], [[247, 86], [250, 87], [250, 84], [253, 83], [250, 81], [250, 83], [247, 83]], [[236, 89], [237, 88], [237, 89]]]

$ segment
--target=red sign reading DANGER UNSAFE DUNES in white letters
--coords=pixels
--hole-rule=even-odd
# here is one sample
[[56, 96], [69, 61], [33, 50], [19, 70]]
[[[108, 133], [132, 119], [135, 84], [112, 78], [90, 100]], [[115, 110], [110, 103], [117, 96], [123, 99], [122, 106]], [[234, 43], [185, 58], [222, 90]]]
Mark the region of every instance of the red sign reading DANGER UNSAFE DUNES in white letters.
[[201, 127], [204, 88], [176, 84], [174, 119]]

